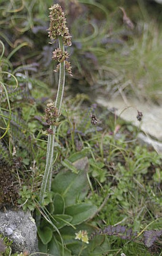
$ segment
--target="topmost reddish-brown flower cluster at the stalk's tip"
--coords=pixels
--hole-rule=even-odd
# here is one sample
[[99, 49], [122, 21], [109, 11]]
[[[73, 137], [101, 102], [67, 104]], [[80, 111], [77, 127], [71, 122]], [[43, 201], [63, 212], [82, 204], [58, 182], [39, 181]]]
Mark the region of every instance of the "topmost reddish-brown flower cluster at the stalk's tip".
[[49, 10], [51, 10], [49, 37], [55, 40], [61, 36], [64, 45], [71, 46], [71, 36], [69, 34], [69, 29], [66, 26], [67, 21], [61, 6], [59, 4], [54, 4]]

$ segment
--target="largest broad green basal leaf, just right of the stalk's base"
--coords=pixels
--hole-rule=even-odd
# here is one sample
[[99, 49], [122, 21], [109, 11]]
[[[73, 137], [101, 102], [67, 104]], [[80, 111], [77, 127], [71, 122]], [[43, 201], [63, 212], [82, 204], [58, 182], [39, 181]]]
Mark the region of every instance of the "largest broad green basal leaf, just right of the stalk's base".
[[52, 191], [61, 194], [66, 206], [73, 205], [77, 200], [83, 200], [88, 192], [86, 169], [78, 174], [62, 170], [52, 182]]

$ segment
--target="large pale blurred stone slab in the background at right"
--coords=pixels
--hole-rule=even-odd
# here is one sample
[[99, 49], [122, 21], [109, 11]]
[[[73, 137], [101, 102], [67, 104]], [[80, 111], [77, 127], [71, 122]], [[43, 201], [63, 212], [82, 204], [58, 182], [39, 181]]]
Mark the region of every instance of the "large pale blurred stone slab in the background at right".
[[[108, 109], [115, 108], [116, 115], [123, 120], [131, 122], [139, 127], [145, 134], [162, 141], [162, 106], [157, 106], [152, 103], [140, 102], [137, 99], [126, 100], [121, 97], [112, 100], [106, 100], [103, 97], [97, 99], [97, 103], [105, 106]], [[136, 118], [137, 110], [142, 112], [142, 121], [139, 122]]]

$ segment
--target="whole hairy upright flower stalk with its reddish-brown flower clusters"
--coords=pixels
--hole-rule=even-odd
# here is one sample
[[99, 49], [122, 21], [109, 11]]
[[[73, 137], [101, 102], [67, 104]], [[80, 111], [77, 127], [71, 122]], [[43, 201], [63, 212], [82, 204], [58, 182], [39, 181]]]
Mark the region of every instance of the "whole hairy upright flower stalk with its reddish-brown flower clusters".
[[48, 129], [48, 143], [46, 154], [46, 167], [43, 175], [40, 192], [40, 203], [43, 206], [44, 196], [46, 192], [51, 190], [52, 165], [56, 128], [59, 125], [59, 116], [61, 114], [61, 104], [65, 85], [65, 70], [71, 73], [71, 63], [67, 61], [69, 54], [64, 50], [64, 46], [71, 46], [71, 36], [66, 26], [65, 14], [59, 4], [55, 4], [50, 8], [50, 28], [49, 36], [51, 40], [59, 40], [59, 48], [53, 51], [53, 59], [58, 62], [55, 72], [59, 73], [59, 84], [55, 105], [48, 103], [46, 108], [45, 120], [50, 125]]

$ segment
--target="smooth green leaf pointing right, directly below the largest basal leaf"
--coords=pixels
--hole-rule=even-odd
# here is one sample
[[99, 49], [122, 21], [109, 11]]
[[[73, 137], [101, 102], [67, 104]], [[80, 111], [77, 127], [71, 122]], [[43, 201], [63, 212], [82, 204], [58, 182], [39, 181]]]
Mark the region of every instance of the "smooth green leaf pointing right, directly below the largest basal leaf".
[[73, 217], [71, 224], [78, 225], [83, 221], [88, 220], [97, 211], [97, 206], [91, 205], [91, 203], [81, 203], [77, 205], [68, 206], [65, 209], [65, 214]]

